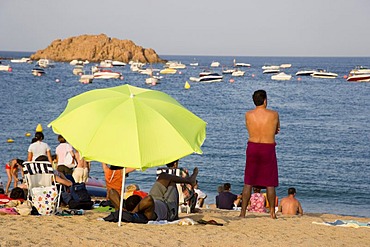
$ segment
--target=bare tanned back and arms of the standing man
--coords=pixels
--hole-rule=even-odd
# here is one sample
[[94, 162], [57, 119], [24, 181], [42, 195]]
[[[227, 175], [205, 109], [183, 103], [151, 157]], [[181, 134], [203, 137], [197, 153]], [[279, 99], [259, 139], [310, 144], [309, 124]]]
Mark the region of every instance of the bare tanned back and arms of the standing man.
[[275, 135], [280, 131], [279, 114], [266, 109], [266, 104], [245, 113], [250, 142], [275, 143]]

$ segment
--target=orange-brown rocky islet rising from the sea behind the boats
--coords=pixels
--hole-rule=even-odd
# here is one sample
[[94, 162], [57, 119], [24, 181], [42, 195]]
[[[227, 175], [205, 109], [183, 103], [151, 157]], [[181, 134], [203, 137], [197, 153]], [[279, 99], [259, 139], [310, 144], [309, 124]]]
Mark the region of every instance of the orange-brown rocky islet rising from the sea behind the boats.
[[107, 59], [128, 63], [163, 63], [151, 48], [137, 46], [131, 40], [110, 38], [105, 34], [81, 35], [64, 40], [54, 40], [46, 49], [38, 50], [30, 57], [32, 60], [47, 58], [58, 62], [70, 62], [74, 59], [100, 62]]

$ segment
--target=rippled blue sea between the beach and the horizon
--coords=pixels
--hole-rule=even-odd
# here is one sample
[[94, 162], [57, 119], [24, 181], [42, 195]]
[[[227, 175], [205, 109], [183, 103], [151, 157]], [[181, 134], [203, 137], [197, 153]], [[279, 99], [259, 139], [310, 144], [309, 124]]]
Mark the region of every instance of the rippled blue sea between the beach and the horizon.
[[[31, 74], [35, 63], [11, 63], [7, 58], [28, 57], [30, 52], [0, 52], [2, 64], [11, 72], [0, 71], [0, 176], [7, 181], [5, 163], [11, 158], [27, 158], [27, 149], [38, 124], [43, 126], [45, 142], [54, 153], [57, 135], [47, 125], [66, 107], [69, 98], [83, 92], [122, 84], [163, 91], [207, 122], [203, 154], [180, 160], [192, 171], [199, 167], [200, 189], [214, 203], [217, 187], [231, 183], [231, 191], [242, 192], [245, 149], [248, 139], [245, 112], [254, 108], [252, 94], [264, 89], [268, 108], [280, 115], [281, 131], [276, 136], [279, 168], [279, 199], [295, 187], [304, 212], [370, 217], [370, 83], [347, 82], [345, 77], [357, 65], [370, 66], [368, 57], [234, 57], [160, 55], [181, 61], [186, 69], [163, 75], [155, 86], [145, 84], [146, 75], [132, 72], [129, 66], [115, 67], [123, 80], [94, 80], [82, 84], [69, 63], [55, 63], [46, 75]], [[199, 83], [189, 80], [209, 69], [213, 61], [232, 67], [233, 60], [251, 64], [243, 77], [224, 75], [222, 82]], [[199, 66], [189, 64], [198, 62]], [[290, 81], [271, 80], [263, 74], [265, 64], [291, 64], [284, 69]], [[89, 64], [86, 70], [93, 64]], [[221, 73], [223, 67], [213, 68]], [[149, 67], [149, 66], [147, 66]], [[153, 64], [162, 69], [163, 64]], [[302, 69], [325, 69], [338, 74], [335, 79], [295, 76]], [[189, 82], [190, 88], [184, 85]], [[89, 121], [86, 120], [86, 125]], [[26, 133], [31, 133], [27, 137]], [[13, 139], [13, 143], [8, 143]], [[106, 145], [113, 145], [107, 143]], [[155, 181], [155, 168], [135, 171], [126, 183], [148, 191]], [[99, 162], [92, 162], [90, 176], [104, 179]]]

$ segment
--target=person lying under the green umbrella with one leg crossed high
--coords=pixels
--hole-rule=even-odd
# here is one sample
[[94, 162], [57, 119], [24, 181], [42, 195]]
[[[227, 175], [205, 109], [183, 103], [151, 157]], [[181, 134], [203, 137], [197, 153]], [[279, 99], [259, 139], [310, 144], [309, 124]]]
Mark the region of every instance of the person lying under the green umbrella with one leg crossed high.
[[194, 186], [198, 168], [195, 167], [190, 177], [178, 177], [176, 175], [161, 173], [151, 188], [149, 195], [144, 197], [131, 211], [133, 214], [144, 216], [146, 220], [168, 220], [178, 219], [179, 195], [176, 184], [185, 183]]

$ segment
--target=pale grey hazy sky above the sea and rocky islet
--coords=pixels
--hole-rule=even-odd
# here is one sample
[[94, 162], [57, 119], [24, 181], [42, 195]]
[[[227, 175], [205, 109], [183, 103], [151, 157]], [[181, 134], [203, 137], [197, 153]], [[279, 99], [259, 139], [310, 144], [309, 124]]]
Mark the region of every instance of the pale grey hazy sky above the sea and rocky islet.
[[106, 34], [159, 55], [370, 57], [370, 0], [0, 0], [0, 51]]

